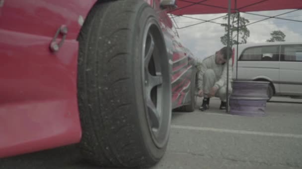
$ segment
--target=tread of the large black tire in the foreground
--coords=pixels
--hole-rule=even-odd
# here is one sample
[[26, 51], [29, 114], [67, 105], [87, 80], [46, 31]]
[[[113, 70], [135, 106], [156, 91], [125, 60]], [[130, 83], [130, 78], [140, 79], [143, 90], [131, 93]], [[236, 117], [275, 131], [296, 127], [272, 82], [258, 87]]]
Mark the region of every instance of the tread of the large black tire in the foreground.
[[[135, 103], [127, 97], [128, 81], [132, 80], [131, 73], [125, 70], [129, 55], [127, 46], [121, 43], [127, 41], [125, 31], [133, 31], [125, 25], [130, 15], [135, 14], [130, 9], [137, 2], [96, 3], [79, 34], [78, 104], [84, 131], [81, 149], [88, 160], [101, 166], [136, 167], [153, 163], [142, 158], [146, 157], [145, 152], [140, 150], [142, 143], [131, 118], [135, 116], [131, 108]], [[107, 34], [99, 35], [100, 32]], [[122, 134], [116, 134], [121, 131]]]

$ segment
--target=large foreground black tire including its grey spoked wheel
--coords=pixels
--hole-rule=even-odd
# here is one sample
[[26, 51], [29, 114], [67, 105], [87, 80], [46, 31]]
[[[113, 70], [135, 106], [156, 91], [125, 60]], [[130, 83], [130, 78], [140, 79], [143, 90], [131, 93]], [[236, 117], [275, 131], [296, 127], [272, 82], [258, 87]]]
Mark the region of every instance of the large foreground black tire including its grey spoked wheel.
[[152, 166], [166, 150], [170, 66], [157, 20], [143, 0], [103, 0], [82, 27], [80, 146], [84, 157], [97, 165]]

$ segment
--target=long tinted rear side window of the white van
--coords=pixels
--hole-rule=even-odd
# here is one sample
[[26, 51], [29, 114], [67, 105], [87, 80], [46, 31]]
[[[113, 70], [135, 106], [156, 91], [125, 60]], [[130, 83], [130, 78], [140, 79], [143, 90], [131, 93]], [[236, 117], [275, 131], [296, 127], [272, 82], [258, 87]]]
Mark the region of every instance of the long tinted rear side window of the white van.
[[239, 60], [279, 61], [279, 45], [247, 48], [241, 53]]

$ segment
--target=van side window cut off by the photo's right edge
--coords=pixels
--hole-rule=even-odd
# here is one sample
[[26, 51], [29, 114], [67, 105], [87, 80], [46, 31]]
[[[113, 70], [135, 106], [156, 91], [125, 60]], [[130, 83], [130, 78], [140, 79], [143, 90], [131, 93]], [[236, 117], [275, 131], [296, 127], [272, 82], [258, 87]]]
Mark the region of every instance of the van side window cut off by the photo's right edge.
[[283, 45], [281, 61], [302, 62], [302, 44]]

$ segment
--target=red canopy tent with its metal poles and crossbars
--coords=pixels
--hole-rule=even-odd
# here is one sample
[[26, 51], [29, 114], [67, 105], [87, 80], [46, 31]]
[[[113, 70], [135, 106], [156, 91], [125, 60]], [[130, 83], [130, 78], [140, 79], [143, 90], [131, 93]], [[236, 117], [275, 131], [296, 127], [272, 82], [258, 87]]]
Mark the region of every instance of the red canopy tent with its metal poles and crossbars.
[[[193, 14], [217, 14], [217, 13], [227, 13], [227, 47], [229, 47], [229, 31], [230, 31], [230, 13], [240, 12], [251, 12], [251, 11], [264, 11], [264, 10], [281, 10], [281, 9], [302, 9], [302, 0], [177, 0], [177, 8], [168, 11], [168, 13], [181, 16], [181, 15], [193, 15]], [[295, 10], [294, 10], [295, 11]], [[292, 12], [292, 11], [291, 11]], [[289, 12], [286, 12], [289, 13]], [[284, 13], [284, 14], [286, 14]], [[251, 14], [251, 13], [250, 13]], [[282, 15], [282, 14], [280, 14]], [[277, 18], [277, 16], [266, 16], [266, 19]], [[265, 16], [265, 15], [262, 15]], [[220, 18], [220, 17], [218, 17]], [[204, 22], [212, 22], [215, 19], [204, 20]], [[266, 20], [263, 19], [263, 20]], [[284, 19], [284, 18], [278, 18]], [[173, 19], [174, 20], [174, 19]], [[262, 20], [260, 20], [262, 21]], [[174, 20], [175, 22], [175, 20]], [[257, 21], [259, 22], [259, 21]], [[302, 21], [298, 21], [302, 22]], [[215, 22], [213, 22], [215, 23]], [[238, 22], [239, 23], [239, 22]], [[256, 22], [254, 22], [256, 23]], [[252, 24], [252, 23], [251, 23]], [[194, 24], [196, 25], [196, 24]], [[192, 25], [191, 25], [192, 26]], [[183, 27], [186, 28], [186, 27]], [[238, 28], [237, 25], [237, 42], [238, 42]], [[237, 44], [237, 58], [238, 62], [238, 44]], [[227, 52], [227, 58], [229, 58], [229, 52]], [[238, 63], [236, 64], [238, 66]], [[237, 71], [237, 68], [236, 68]], [[237, 74], [236, 74], [237, 75]], [[228, 64], [227, 64], [227, 88], [228, 88]], [[227, 90], [228, 95], [228, 90]], [[227, 99], [227, 110], [228, 112], [228, 99]]]

